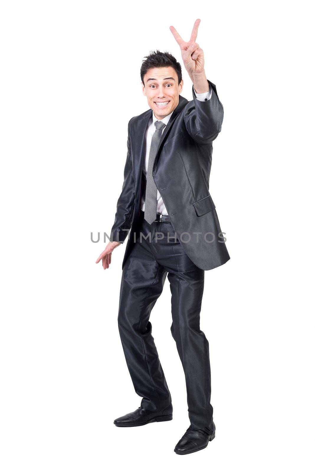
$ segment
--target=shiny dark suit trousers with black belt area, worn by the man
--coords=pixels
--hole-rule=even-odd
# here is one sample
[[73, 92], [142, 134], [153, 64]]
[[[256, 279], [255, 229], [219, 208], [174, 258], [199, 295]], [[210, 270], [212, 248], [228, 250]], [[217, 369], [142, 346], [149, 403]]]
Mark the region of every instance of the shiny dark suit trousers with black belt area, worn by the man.
[[[124, 264], [119, 297], [118, 328], [128, 370], [143, 408], [155, 411], [170, 405], [171, 394], [149, 321], [167, 275], [172, 294], [171, 333], [185, 373], [191, 429], [203, 428], [211, 424], [213, 415], [209, 344], [199, 327], [204, 270], [184, 252], [179, 235], [175, 241], [171, 223], [149, 225], [143, 216], [141, 211], [136, 243]], [[149, 233], [151, 242], [145, 239]]]

